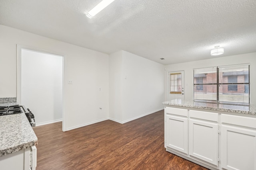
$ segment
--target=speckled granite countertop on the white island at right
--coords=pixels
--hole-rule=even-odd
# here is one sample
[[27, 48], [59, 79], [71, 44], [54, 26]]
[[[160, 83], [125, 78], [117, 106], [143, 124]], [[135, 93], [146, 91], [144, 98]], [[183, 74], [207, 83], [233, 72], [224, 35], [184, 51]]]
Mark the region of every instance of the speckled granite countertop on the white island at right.
[[228, 112], [234, 112], [234, 113], [256, 115], [255, 104], [250, 104], [249, 106], [241, 106], [241, 105], [220, 104], [220, 103], [212, 103], [212, 102], [195, 102], [194, 100], [181, 100], [181, 99], [174, 99], [174, 100], [162, 102], [162, 104], [171, 105], [171, 106], [182, 106], [182, 107], [190, 107], [190, 108], [197, 108], [197, 109], [228, 111]]

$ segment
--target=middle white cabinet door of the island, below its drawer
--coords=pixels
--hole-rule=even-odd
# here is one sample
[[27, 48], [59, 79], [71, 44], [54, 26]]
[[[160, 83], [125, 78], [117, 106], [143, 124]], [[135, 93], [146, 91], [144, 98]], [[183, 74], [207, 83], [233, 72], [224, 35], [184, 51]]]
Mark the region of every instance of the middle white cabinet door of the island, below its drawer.
[[218, 166], [218, 124], [190, 120], [189, 154]]

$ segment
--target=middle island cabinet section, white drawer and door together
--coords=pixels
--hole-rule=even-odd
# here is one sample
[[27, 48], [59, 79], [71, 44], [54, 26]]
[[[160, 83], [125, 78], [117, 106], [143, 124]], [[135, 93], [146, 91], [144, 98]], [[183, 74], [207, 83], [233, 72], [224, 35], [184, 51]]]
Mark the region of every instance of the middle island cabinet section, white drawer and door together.
[[189, 155], [218, 166], [218, 113], [189, 111]]

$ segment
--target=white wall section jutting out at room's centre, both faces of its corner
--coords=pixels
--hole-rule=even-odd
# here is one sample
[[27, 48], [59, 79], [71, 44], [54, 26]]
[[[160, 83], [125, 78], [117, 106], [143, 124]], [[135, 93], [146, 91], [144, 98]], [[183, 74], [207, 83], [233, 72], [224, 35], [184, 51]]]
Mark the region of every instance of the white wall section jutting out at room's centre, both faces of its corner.
[[[110, 55], [110, 94], [113, 93], [110, 118], [120, 123], [163, 109], [164, 66], [126, 51]], [[117, 117], [120, 112], [122, 116]]]

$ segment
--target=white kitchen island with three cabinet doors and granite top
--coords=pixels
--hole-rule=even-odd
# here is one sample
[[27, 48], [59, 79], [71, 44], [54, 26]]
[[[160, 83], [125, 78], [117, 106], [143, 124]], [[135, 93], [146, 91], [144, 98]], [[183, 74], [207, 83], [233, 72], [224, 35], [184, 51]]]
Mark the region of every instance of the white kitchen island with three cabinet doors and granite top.
[[256, 106], [163, 102], [166, 151], [216, 170], [256, 170]]

